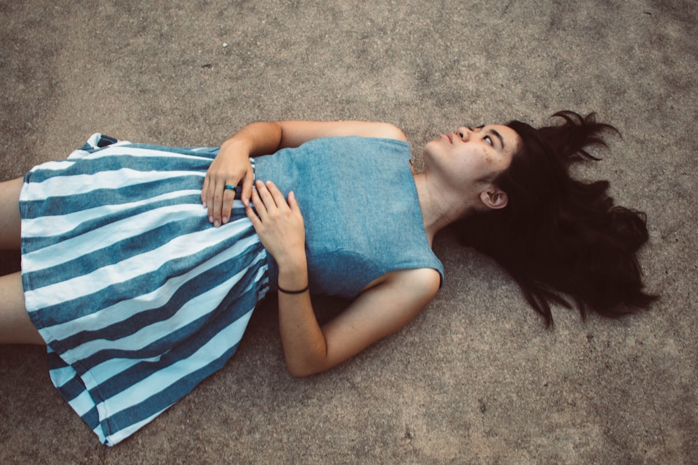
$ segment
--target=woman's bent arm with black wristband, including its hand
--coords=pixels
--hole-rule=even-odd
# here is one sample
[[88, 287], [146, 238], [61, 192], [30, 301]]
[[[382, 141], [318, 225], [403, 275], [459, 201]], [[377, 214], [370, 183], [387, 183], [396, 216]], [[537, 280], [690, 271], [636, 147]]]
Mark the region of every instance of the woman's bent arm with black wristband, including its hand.
[[[273, 183], [257, 181], [248, 218], [262, 244], [279, 265], [279, 287], [304, 289], [308, 284], [305, 231], [292, 192], [288, 204]], [[307, 376], [355, 356], [411, 321], [436, 295], [436, 270], [416, 268], [387, 273], [362, 292], [338, 317], [318, 324], [309, 293], [279, 291], [279, 328], [288, 371]]]

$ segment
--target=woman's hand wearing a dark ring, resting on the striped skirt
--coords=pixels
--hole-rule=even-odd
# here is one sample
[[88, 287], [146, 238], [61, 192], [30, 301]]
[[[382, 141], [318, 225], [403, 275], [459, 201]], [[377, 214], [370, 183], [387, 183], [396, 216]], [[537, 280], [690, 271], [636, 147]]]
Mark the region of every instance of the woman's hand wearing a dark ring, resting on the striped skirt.
[[201, 203], [208, 209], [209, 221], [218, 227], [230, 220], [235, 190], [226, 189], [226, 185], [242, 183], [240, 199], [244, 206], [249, 206], [253, 180], [249, 151], [234, 139], [228, 139], [211, 162], [201, 189]]

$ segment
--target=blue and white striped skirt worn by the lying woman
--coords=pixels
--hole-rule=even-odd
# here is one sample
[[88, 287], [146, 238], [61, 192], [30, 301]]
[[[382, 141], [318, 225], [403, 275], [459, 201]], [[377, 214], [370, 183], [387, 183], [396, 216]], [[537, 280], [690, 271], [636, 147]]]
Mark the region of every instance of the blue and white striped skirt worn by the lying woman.
[[24, 178], [22, 282], [54, 385], [114, 445], [230, 359], [268, 289], [242, 202], [200, 201], [217, 148], [99, 134]]

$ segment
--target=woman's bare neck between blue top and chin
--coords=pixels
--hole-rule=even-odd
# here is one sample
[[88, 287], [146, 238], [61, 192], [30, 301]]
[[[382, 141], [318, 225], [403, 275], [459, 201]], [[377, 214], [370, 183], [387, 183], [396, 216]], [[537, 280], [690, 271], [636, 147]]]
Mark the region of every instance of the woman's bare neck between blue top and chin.
[[449, 198], [446, 190], [431, 182], [426, 173], [415, 174], [415, 185], [429, 245], [433, 243], [438, 231], [468, 215], [474, 208], [470, 202], [464, 202], [462, 198]]

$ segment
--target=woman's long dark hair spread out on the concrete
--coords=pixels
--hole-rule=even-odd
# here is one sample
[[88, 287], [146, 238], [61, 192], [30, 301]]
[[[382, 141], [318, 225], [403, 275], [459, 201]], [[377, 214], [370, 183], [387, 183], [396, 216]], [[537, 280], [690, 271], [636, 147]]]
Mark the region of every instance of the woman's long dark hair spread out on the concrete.
[[517, 281], [547, 326], [551, 303], [607, 317], [647, 307], [657, 296], [642, 291], [637, 250], [648, 240], [644, 213], [614, 206], [608, 181], [570, 176], [573, 162], [598, 160], [586, 151], [605, 146], [602, 133], [617, 130], [558, 112], [560, 125], [540, 129], [507, 125], [521, 137], [509, 168], [493, 181], [507, 192], [500, 210], [457, 222], [459, 241], [498, 261]]

